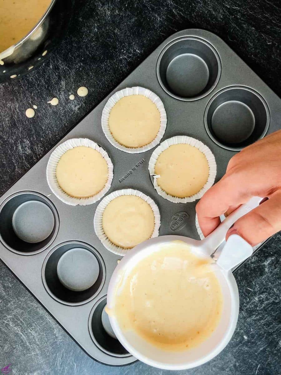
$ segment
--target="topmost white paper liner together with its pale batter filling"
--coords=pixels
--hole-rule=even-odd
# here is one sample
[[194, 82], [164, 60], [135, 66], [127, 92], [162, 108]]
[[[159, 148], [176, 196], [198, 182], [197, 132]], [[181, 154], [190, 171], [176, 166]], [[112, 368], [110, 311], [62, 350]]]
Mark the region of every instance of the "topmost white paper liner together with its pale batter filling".
[[166, 130], [167, 115], [160, 98], [143, 87], [116, 92], [102, 111], [102, 129], [119, 150], [141, 153], [155, 147]]

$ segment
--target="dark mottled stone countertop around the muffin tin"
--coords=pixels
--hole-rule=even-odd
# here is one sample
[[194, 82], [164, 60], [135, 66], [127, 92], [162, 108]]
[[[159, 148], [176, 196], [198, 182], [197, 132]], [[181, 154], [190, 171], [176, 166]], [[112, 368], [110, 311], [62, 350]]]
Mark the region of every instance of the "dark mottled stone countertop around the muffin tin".
[[[218, 34], [280, 96], [280, 12], [278, 0], [76, 0], [69, 33], [49, 60], [0, 85], [0, 193], [175, 31]], [[89, 95], [70, 102], [79, 86]], [[46, 104], [53, 96], [57, 107]], [[32, 104], [38, 110], [28, 120]], [[280, 240], [275, 235], [235, 273], [241, 308], [229, 345], [182, 374], [281, 374]], [[1, 262], [0, 313], [0, 368], [11, 363], [14, 375], [168, 374], [141, 362], [94, 362]]]

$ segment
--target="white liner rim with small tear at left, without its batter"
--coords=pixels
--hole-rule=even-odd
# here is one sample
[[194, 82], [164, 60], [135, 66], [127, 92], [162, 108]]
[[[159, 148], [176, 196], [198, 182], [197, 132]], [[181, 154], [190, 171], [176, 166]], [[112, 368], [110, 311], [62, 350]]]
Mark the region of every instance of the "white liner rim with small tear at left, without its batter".
[[[161, 154], [161, 152], [166, 150], [166, 148], [170, 147], [173, 144], [189, 144], [191, 146], [194, 146], [198, 148], [198, 150], [201, 151], [206, 156], [206, 159], [208, 161], [208, 165], [209, 165], [208, 180], [205, 183], [205, 185], [202, 187], [202, 189], [198, 193], [192, 196], [187, 196], [185, 198], [178, 198], [178, 197], [172, 196], [170, 194], [167, 194], [164, 190], [162, 190], [161, 187], [157, 183], [157, 178], [160, 176], [155, 174], [155, 163], [159, 155]], [[212, 184], [214, 184], [215, 177], [217, 174], [217, 164], [215, 162], [215, 157], [212, 154], [212, 151], [209, 149], [209, 147], [207, 147], [201, 141], [195, 138], [185, 136], [185, 135], [177, 135], [177, 136], [173, 136], [172, 138], [166, 139], [153, 151], [149, 159], [148, 170], [153, 180], [153, 186], [160, 196], [162, 196], [163, 198], [173, 203], [188, 203], [188, 202], [196, 201], [196, 199], [200, 199], [203, 196], [203, 194], [212, 186]]]

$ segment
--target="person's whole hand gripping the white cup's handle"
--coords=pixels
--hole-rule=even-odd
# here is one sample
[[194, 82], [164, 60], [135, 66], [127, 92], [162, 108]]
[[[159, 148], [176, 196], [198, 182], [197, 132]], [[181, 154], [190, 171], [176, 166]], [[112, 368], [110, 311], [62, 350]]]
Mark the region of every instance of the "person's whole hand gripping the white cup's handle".
[[239, 234], [254, 246], [281, 230], [281, 130], [234, 155], [223, 178], [197, 203], [204, 236], [220, 224], [221, 214], [230, 214], [252, 196], [269, 199], [237, 220], [226, 239]]

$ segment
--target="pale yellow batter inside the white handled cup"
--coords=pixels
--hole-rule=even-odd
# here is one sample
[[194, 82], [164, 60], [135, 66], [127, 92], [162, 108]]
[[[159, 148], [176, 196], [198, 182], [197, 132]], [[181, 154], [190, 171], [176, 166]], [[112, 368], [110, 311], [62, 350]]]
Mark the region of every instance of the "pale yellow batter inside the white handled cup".
[[163, 247], [121, 280], [110, 313], [123, 330], [134, 330], [163, 350], [196, 347], [214, 332], [223, 307], [209, 259], [181, 241]]

